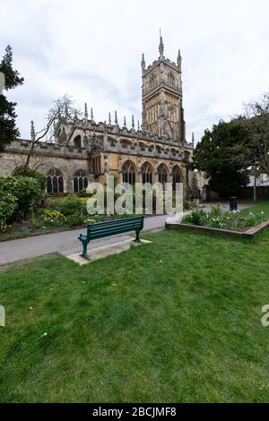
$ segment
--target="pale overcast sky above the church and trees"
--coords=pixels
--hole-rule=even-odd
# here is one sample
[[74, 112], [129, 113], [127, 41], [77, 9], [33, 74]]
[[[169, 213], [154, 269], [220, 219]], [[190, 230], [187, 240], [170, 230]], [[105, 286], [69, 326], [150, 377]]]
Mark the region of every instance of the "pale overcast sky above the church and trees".
[[96, 121], [141, 120], [141, 55], [158, 57], [160, 28], [165, 56], [181, 49], [188, 140], [269, 91], [268, 0], [0, 0], [0, 16], [0, 54], [10, 44], [25, 79], [8, 92], [24, 138], [65, 93]]

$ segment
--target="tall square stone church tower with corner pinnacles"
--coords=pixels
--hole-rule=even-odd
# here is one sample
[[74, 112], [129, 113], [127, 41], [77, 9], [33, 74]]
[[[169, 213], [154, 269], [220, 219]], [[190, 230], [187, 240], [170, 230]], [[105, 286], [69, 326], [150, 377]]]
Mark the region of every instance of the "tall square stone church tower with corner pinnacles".
[[142, 56], [142, 127], [159, 136], [186, 142], [184, 109], [182, 107], [181, 55], [177, 64], [163, 55], [160, 33], [160, 56], [147, 68]]

